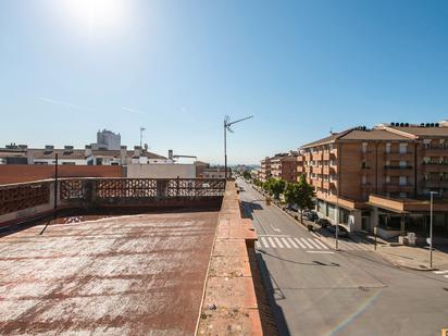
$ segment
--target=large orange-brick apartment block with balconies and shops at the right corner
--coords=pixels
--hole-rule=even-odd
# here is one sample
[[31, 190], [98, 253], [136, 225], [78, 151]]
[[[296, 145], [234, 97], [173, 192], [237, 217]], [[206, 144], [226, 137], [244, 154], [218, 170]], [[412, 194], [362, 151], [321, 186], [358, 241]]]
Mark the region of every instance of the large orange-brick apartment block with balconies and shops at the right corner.
[[434, 231], [448, 237], [448, 124], [379, 124], [350, 128], [304, 145], [297, 172], [316, 191], [322, 216], [350, 231], [384, 237], [427, 236], [430, 192], [436, 191]]

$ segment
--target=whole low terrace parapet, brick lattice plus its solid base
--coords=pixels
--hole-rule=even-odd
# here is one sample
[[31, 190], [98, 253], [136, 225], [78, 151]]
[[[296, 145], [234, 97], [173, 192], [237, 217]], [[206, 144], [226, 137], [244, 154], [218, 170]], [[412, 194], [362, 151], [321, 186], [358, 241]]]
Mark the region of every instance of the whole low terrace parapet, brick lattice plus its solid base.
[[0, 185], [0, 225], [54, 212], [221, 204], [217, 178], [63, 178]]

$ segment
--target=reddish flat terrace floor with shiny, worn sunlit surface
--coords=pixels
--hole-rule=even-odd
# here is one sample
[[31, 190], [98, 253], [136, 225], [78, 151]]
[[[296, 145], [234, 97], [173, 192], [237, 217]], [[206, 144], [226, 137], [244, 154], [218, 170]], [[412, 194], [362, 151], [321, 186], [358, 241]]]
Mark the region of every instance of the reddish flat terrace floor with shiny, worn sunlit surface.
[[0, 334], [192, 335], [217, 215], [129, 215], [0, 238]]

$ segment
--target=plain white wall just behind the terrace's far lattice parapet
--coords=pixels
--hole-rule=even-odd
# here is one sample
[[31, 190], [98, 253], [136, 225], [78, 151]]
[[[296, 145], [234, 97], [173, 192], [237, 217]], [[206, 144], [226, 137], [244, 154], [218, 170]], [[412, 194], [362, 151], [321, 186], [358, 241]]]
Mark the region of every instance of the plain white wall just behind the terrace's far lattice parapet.
[[195, 178], [194, 164], [128, 164], [127, 177], [134, 178]]

